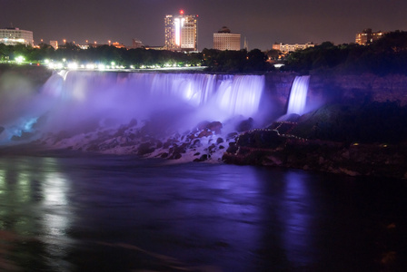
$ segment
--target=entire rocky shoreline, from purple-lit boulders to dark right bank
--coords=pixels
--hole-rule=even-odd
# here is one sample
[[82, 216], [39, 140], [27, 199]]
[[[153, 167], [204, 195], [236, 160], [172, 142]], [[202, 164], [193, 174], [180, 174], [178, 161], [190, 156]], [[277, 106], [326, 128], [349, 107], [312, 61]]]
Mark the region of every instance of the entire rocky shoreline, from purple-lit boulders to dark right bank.
[[[407, 179], [407, 144], [345, 143], [305, 139], [292, 134], [293, 121], [252, 129], [251, 119], [233, 130], [219, 121], [158, 135], [149, 122], [69, 135], [48, 133], [31, 144], [43, 150], [161, 158], [169, 163], [209, 162], [313, 170], [349, 176]], [[226, 132], [227, 131], [227, 132]]]

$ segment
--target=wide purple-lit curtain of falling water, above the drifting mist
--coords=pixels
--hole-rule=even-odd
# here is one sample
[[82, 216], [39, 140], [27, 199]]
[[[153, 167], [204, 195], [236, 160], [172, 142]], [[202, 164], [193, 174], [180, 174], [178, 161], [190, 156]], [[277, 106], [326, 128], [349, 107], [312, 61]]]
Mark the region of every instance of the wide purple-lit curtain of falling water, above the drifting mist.
[[120, 101], [121, 108], [142, 102], [145, 111], [165, 103], [185, 102], [194, 108], [210, 107], [221, 114], [220, 118], [251, 117], [258, 111], [264, 87], [262, 75], [70, 72], [54, 76], [59, 76], [62, 86], [50, 79], [45, 92], [71, 102], [90, 102], [91, 108], [105, 103], [104, 99]]

